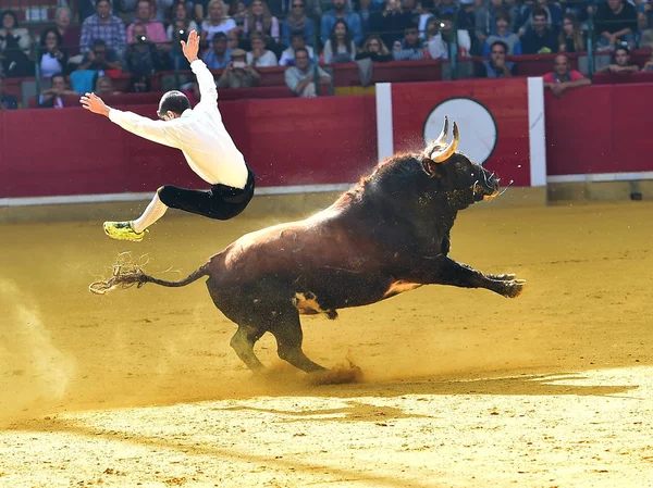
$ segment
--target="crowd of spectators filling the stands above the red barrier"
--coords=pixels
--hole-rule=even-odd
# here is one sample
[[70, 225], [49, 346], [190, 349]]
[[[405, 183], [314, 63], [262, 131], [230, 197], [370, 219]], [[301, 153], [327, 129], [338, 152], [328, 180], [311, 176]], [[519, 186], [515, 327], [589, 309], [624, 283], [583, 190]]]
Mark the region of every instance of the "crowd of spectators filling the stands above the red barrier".
[[0, 75], [50, 80], [44, 107], [67, 92], [111, 92], [116, 74], [131, 74], [130, 91], [149, 91], [153, 73], [189, 70], [180, 41], [195, 29], [202, 60], [223, 70], [220, 87], [256, 86], [257, 68], [281, 65], [291, 90], [312, 96], [315, 75], [318, 85], [331, 76], [316, 63], [447, 59], [454, 46], [461, 58], [485, 58], [477, 76], [513, 76], [518, 63], [506, 57], [587, 51], [592, 23], [597, 49], [614, 57], [603, 71], [649, 70], [629, 51], [653, 48], [652, 1], [78, 0], [38, 33], [3, 11]]

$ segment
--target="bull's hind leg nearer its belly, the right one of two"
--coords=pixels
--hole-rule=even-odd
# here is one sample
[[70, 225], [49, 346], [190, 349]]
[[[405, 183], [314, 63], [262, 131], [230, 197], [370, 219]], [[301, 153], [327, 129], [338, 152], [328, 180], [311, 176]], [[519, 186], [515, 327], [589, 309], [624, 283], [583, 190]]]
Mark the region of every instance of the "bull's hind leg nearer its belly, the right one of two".
[[309, 360], [301, 350], [304, 333], [301, 331], [299, 313], [296, 309], [288, 308], [284, 311], [275, 311], [270, 333], [276, 339], [276, 352], [282, 360], [287, 361], [305, 373], [326, 370]]

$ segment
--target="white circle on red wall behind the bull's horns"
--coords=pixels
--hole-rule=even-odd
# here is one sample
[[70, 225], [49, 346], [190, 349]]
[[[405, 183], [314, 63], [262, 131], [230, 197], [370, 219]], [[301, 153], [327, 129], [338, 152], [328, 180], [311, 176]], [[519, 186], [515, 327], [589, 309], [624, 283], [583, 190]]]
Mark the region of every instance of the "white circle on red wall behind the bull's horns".
[[424, 146], [440, 136], [444, 116], [448, 115], [452, 140], [454, 122], [458, 125], [460, 141], [458, 151], [475, 163], [483, 164], [496, 147], [496, 123], [488, 109], [470, 98], [449, 98], [436, 105], [424, 122]]

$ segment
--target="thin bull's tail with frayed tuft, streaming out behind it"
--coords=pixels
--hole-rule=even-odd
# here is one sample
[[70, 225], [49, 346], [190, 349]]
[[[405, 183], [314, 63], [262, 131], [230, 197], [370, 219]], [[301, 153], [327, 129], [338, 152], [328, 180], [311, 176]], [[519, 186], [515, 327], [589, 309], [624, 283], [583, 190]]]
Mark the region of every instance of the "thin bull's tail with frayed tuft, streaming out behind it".
[[104, 295], [115, 288], [131, 288], [136, 285], [140, 288], [146, 283], [167, 287], [182, 287], [196, 281], [202, 276], [209, 274], [209, 263], [205, 263], [195, 272], [190, 273], [186, 278], [178, 281], [169, 281], [167, 279], [155, 278], [145, 274], [140, 265], [134, 263], [128, 253], [121, 254], [118, 263], [113, 266], [113, 274], [109, 279], [101, 279], [89, 285], [88, 289], [96, 295]]

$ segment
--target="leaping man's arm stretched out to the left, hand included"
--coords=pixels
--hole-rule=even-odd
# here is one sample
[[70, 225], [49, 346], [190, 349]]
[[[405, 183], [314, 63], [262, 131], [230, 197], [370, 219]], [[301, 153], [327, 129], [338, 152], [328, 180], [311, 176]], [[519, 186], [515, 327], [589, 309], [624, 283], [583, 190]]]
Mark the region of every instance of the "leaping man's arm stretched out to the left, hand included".
[[125, 130], [143, 137], [144, 139], [159, 142], [171, 148], [181, 147], [181, 138], [175, 127], [163, 121], [152, 121], [134, 112], [123, 112], [107, 105], [100, 97], [95, 93], [86, 93], [79, 99], [84, 109], [104, 115], [120, 125]]

